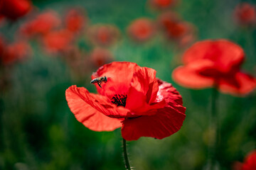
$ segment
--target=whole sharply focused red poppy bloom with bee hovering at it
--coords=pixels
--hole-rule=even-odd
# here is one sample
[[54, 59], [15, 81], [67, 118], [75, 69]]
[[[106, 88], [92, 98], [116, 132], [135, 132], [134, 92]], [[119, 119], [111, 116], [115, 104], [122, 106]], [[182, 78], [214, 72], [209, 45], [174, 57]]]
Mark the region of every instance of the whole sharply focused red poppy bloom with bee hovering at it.
[[156, 71], [132, 62], [112, 62], [100, 67], [92, 79], [107, 77], [97, 86], [99, 94], [70, 86], [66, 99], [70, 110], [85, 127], [110, 131], [122, 127], [125, 140], [139, 137], [162, 139], [177, 132], [186, 115], [181, 95], [156, 79]]

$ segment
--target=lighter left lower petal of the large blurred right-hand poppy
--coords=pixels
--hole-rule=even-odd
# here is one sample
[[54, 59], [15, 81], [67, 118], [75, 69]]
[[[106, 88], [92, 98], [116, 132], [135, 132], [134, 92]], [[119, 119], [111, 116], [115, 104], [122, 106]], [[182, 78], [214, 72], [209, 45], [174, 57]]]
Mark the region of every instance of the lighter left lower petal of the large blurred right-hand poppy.
[[181, 86], [193, 89], [207, 88], [213, 86], [214, 79], [213, 77], [205, 77], [199, 74], [206, 68], [210, 68], [210, 62], [208, 60], [200, 60], [200, 62], [177, 67], [172, 72], [172, 77]]

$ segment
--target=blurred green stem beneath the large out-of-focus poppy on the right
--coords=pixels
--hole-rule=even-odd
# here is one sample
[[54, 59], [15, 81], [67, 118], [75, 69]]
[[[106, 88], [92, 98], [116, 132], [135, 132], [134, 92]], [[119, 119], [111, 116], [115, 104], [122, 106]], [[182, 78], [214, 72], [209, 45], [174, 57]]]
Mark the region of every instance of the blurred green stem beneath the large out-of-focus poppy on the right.
[[211, 98], [211, 111], [210, 111], [210, 134], [209, 134], [209, 149], [208, 149], [208, 169], [218, 169], [216, 160], [216, 149], [218, 145], [218, 113], [216, 108], [216, 103], [218, 100], [218, 90], [213, 89]]

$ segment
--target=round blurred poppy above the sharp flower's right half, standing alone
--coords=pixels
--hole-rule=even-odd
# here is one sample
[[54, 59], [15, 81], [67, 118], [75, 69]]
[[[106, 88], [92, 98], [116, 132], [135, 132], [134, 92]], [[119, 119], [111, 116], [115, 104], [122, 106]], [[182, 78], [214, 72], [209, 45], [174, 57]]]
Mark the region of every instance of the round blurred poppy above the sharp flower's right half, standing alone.
[[155, 33], [154, 22], [149, 18], [138, 18], [130, 23], [127, 33], [138, 42], [149, 40]]

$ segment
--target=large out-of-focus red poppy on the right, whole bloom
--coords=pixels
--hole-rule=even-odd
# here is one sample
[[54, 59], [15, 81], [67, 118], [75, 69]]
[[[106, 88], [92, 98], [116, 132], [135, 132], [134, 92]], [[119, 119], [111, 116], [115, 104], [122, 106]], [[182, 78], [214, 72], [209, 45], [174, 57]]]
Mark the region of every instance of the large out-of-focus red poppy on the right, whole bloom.
[[184, 66], [174, 69], [178, 84], [201, 89], [217, 86], [223, 93], [242, 95], [255, 89], [256, 79], [240, 72], [245, 54], [228, 40], [204, 40], [183, 55]]

